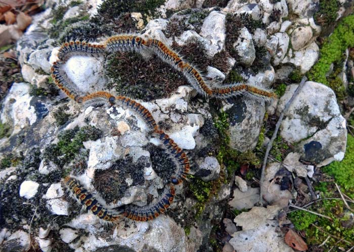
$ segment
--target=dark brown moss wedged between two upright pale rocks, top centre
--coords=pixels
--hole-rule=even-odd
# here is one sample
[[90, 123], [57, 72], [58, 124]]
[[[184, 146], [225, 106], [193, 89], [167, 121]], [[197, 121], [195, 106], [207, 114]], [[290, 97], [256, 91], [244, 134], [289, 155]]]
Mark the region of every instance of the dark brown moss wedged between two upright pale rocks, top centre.
[[261, 20], [254, 20], [247, 13], [228, 14], [226, 15], [226, 39], [225, 46], [230, 55], [234, 58], [238, 58], [233, 44], [237, 41], [240, 35], [240, 29], [246, 27], [250, 33], [253, 33], [255, 29], [262, 28], [263, 24]]

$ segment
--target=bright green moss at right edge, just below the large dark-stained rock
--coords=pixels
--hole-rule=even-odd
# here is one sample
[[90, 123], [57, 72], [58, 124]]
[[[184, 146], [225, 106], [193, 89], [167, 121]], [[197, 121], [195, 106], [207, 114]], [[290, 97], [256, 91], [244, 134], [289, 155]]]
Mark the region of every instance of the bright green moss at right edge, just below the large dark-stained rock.
[[323, 171], [333, 176], [348, 195], [354, 197], [354, 137], [348, 134], [345, 157], [341, 162], [335, 161], [323, 168]]

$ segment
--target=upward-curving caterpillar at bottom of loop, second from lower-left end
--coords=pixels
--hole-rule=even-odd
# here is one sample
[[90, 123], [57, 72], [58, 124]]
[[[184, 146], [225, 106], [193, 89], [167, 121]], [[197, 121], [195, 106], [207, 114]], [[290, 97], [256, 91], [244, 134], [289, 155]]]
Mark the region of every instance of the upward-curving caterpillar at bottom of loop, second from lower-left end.
[[[154, 205], [148, 208], [125, 207], [122, 215], [134, 221], [150, 221], [163, 214], [173, 202], [175, 189], [170, 185], [169, 191]], [[119, 209], [119, 208], [118, 208]], [[121, 208], [120, 208], [121, 209]]]

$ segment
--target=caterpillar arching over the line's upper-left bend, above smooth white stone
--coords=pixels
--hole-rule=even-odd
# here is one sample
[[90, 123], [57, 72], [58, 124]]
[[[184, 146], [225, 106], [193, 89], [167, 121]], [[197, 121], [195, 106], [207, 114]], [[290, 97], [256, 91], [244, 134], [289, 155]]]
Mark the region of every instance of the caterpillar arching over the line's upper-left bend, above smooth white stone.
[[59, 49], [58, 58], [61, 61], [66, 61], [72, 53], [82, 55], [97, 55], [103, 54], [106, 51], [104, 44], [92, 44], [85, 41], [69, 41], [62, 44]]

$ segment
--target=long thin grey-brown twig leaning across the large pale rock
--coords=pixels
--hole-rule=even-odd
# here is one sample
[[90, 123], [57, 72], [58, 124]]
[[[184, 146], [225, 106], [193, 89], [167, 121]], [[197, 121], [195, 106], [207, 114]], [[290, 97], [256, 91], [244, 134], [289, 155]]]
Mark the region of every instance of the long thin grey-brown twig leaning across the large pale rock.
[[262, 186], [262, 181], [264, 180], [264, 170], [265, 170], [265, 166], [267, 165], [267, 159], [268, 159], [269, 153], [270, 153], [270, 151], [272, 149], [273, 142], [274, 142], [275, 138], [277, 137], [277, 133], [278, 133], [280, 124], [283, 121], [284, 114], [288, 111], [291, 103], [293, 102], [293, 100], [295, 99], [297, 94], [300, 92], [300, 90], [303, 87], [303, 85], [305, 84], [306, 80], [307, 80], [307, 78], [305, 76], [303, 76], [302, 79], [301, 79], [301, 82], [298, 85], [298, 87], [296, 88], [294, 94], [291, 96], [289, 102], [285, 105], [284, 110], [280, 114], [279, 120], [278, 120], [278, 122], [277, 122], [277, 124], [275, 126], [275, 130], [274, 130], [274, 133], [272, 135], [272, 138], [269, 141], [269, 143], [267, 144], [267, 149], [265, 150], [265, 155], [264, 155], [263, 165], [262, 165], [262, 172], [261, 172], [260, 181], [259, 181], [259, 183], [260, 183], [260, 195], [259, 195], [259, 201], [258, 201], [259, 206], [263, 205], [263, 186]]

